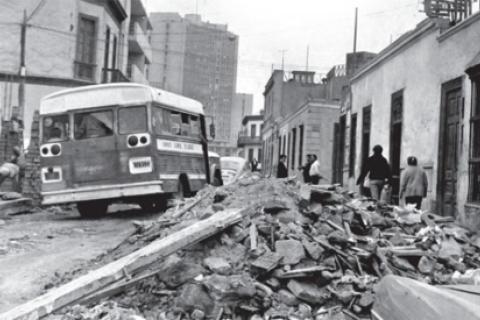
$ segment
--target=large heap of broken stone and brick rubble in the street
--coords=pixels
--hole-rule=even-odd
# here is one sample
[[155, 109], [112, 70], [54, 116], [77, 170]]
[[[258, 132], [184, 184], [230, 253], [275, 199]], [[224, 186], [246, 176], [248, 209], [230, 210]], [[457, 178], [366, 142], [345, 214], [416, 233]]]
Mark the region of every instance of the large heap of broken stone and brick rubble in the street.
[[375, 285], [386, 275], [480, 282], [480, 238], [449, 217], [355, 199], [338, 186], [255, 175], [202, 190], [193, 201], [181, 216], [174, 207], [158, 222], [138, 222], [101, 259], [227, 208], [247, 207], [249, 218], [168, 256], [135, 285], [84, 301], [93, 307], [59, 317], [123, 319], [117, 309], [124, 308], [145, 319], [370, 319]]

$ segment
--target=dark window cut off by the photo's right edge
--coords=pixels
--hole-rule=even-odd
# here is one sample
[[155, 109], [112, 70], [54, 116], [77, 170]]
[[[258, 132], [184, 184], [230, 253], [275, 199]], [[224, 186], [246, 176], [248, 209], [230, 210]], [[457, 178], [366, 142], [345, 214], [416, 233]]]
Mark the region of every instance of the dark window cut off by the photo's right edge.
[[480, 77], [472, 82], [472, 116], [470, 136], [470, 192], [469, 201], [480, 202]]

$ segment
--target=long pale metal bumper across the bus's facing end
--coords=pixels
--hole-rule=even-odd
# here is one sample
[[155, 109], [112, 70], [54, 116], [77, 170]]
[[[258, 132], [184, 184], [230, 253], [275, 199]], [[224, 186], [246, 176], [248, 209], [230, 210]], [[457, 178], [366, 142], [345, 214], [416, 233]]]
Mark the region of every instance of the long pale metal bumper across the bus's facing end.
[[99, 185], [42, 192], [42, 204], [53, 205], [89, 200], [118, 199], [162, 193], [162, 181]]

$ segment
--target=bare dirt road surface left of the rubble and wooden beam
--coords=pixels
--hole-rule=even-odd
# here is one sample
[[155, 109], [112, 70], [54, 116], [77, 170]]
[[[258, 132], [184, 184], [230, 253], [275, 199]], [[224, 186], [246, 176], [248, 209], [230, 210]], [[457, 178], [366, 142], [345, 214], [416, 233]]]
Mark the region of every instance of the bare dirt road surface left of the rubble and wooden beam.
[[38, 296], [56, 272], [117, 246], [133, 232], [132, 220], [156, 217], [125, 206], [109, 211], [97, 220], [60, 209], [0, 220], [0, 313]]

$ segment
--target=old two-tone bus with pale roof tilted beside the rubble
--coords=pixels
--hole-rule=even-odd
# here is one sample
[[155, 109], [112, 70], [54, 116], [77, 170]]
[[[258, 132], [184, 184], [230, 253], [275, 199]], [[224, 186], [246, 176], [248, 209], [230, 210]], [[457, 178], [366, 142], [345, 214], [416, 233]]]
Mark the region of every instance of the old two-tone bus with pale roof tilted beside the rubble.
[[45, 205], [161, 210], [210, 180], [203, 107], [180, 95], [131, 83], [64, 90], [42, 99], [40, 124]]

